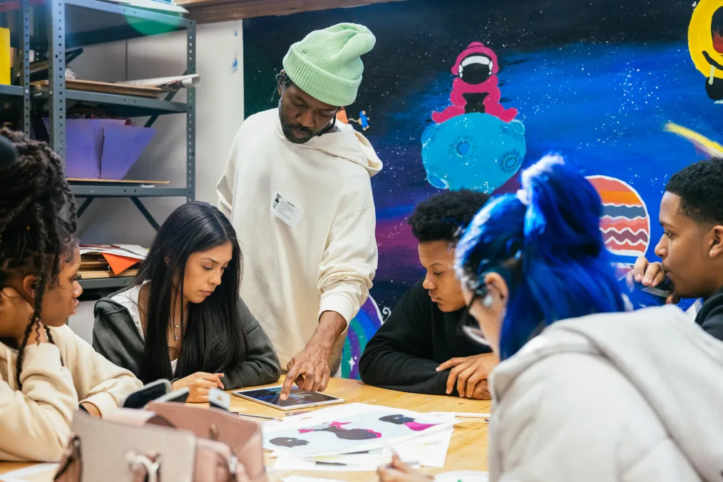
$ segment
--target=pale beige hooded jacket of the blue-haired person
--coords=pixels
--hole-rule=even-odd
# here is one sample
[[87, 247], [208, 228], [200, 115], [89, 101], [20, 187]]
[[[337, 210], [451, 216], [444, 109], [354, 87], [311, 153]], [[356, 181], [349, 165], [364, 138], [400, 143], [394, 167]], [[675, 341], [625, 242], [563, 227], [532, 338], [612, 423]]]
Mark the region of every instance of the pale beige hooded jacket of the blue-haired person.
[[723, 480], [723, 342], [676, 306], [552, 324], [490, 384], [490, 481]]

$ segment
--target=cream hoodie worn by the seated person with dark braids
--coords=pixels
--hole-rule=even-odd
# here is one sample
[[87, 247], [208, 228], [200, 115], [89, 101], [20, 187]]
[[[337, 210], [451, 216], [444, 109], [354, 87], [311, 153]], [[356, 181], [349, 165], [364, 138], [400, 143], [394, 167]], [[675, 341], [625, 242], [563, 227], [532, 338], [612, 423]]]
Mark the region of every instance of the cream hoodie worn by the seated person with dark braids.
[[0, 460], [58, 460], [79, 403], [92, 403], [106, 415], [142, 387], [139, 379], [95, 353], [69, 327], [51, 332], [55, 345], [25, 348], [22, 392], [15, 383], [15, 352], [0, 343]]

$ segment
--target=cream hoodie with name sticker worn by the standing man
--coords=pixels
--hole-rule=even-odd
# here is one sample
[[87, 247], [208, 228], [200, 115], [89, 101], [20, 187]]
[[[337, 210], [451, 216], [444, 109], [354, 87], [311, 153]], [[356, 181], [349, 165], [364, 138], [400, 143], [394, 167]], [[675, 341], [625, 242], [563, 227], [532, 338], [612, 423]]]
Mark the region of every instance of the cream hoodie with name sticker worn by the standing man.
[[370, 177], [382, 163], [364, 136], [336, 125], [296, 145], [283, 137], [278, 109], [249, 117], [216, 186], [244, 254], [241, 296], [283, 369], [323, 311], [354, 318], [377, 269]]

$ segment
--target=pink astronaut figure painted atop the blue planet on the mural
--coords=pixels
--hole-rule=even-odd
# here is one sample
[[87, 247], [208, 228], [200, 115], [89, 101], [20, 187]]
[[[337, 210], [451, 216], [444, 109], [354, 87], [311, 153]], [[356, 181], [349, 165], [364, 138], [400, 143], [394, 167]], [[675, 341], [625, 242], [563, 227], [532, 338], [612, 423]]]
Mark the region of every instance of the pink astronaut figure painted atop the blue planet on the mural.
[[441, 124], [454, 116], [465, 113], [488, 113], [498, 119], [510, 122], [517, 116], [517, 109], [504, 108], [500, 104], [502, 93], [497, 87], [497, 54], [481, 42], [472, 42], [464, 49], [452, 67], [457, 76], [452, 82], [451, 106], [442, 112], [433, 112], [432, 119]]

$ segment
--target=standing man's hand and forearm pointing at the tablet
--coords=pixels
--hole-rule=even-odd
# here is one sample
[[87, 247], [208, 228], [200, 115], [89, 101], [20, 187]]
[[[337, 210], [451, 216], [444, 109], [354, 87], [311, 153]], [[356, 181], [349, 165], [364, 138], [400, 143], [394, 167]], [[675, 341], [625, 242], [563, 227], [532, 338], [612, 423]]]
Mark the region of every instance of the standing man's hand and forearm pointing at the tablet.
[[325, 311], [304, 350], [288, 361], [280, 400], [286, 400], [296, 384], [304, 392], [323, 392], [329, 383], [329, 357], [335, 341], [346, 329], [346, 320], [335, 311]]

